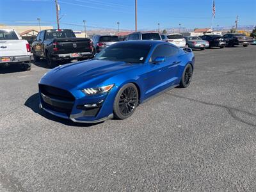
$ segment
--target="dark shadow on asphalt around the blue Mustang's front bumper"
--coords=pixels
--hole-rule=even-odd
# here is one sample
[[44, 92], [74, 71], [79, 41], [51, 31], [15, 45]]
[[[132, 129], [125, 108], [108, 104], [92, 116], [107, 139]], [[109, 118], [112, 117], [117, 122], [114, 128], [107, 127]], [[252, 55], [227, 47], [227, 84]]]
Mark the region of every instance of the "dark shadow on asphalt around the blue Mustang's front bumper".
[[[44, 116], [44, 118], [47, 118], [49, 120], [52, 120], [54, 122], [59, 122], [64, 125], [68, 126], [74, 126], [74, 127], [91, 127], [92, 125], [97, 124], [79, 124], [72, 122], [72, 120], [67, 120], [65, 118], [59, 118], [58, 116], [51, 115], [50, 113], [45, 112], [43, 109], [39, 108], [39, 95], [38, 93], [35, 93], [34, 95], [31, 95], [28, 100], [26, 100], [25, 106], [32, 109], [35, 113], [38, 113], [41, 116]], [[99, 123], [101, 124], [101, 123]]]

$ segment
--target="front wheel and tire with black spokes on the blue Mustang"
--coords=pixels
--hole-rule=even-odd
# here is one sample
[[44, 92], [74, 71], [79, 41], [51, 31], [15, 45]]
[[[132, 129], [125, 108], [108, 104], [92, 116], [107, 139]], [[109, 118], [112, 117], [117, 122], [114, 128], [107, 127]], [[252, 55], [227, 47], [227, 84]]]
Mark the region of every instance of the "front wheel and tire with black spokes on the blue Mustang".
[[139, 93], [133, 83], [125, 84], [116, 94], [113, 112], [117, 119], [125, 119], [134, 113], [138, 106]]

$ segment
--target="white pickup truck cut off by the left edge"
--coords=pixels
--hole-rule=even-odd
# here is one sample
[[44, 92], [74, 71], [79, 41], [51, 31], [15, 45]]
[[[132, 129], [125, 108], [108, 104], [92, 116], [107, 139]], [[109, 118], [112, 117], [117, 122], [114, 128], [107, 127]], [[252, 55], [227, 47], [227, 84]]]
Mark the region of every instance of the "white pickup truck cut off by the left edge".
[[0, 29], [0, 67], [20, 63], [24, 70], [31, 68], [31, 49], [27, 40], [22, 40], [12, 29]]

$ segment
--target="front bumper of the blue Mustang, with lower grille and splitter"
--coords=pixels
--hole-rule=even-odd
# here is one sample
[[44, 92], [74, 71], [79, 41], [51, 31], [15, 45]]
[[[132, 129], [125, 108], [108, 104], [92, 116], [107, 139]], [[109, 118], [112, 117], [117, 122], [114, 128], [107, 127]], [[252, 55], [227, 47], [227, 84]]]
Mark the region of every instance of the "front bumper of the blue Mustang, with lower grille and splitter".
[[[113, 118], [115, 93], [111, 92], [115, 92], [115, 90], [112, 89], [109, 93], [94, 96], [84, 95], [80, 90], [67, 90], [65, 92], [74, 95], [74, 100], [61, 100], [60, 97], [51, 94], [45, 95], [45, 91], [40, 85], [40, 108], [54, 116], [79, 123], [92, 124]], [[93, 104], [97, 105], [94, 106]]]

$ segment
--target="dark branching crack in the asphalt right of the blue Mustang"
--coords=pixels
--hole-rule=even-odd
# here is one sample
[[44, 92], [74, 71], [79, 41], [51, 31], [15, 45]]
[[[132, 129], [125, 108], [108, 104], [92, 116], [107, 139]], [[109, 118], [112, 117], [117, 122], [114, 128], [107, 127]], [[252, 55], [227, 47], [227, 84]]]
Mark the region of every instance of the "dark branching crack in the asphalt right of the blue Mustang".
[[256, 127], [256, 124], [253, 124], [251, 122], [247, 122], [246, 120], [243, 120], [243, 118], [237, 116], [234, 111], [238, 111], [240, 113], [245, 113], [246, 115], [249, 115], [249, 116], [253, 116], [256, 118], [256, 115], [254, 115], [253, 113], [250, 113], [248, 111], [243, 111], [241, 109], [236, 109], [236, 108], [232, 108], [232, 107], [228, 107], [228, 106], [224, 106], [224, 105], [221, 105], [221, 104], [213, 104], [211, 102], [205, 102], [205, 101], [202, 101], [202, 100], [196, 100], [196, 99], [191, 99], [189, 97], [183, 97], [183, 96], [180, 96], [180, 95], [175, 95], [173, 93], [168, 93], [166, 92], [165, 93], [166, 95], [170, 95], [170, 96], [173, 96], [173, 97], [178, 97], [178, 98], [181, 98], [181, 99], [187, 99], [187, 100], [192, 100], [194, 102], [199, 102], [201, 104], [206, 104], [206, 105], [210, 105], [210, 106], [216, 106], [216, 107], [220, 107], [220, 108], [224, 108], [228, 111], [228, 113], [236, 120], [238, 120], [239, 122], [243, 122], [244, 124], [247, 124], [247, 125], [251, 125], [253, 127]]

